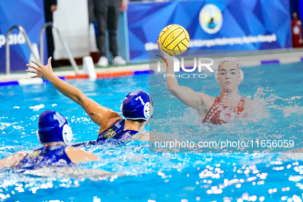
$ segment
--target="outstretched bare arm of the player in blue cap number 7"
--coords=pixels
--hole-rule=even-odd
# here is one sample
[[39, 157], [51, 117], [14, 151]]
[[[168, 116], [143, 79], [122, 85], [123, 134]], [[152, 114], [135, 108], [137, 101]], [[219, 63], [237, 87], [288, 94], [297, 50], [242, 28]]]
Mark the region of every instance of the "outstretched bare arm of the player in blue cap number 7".
[[98, 103], [94, 102], [94, 100], [85, 96], [85, 94], [79, 89], [67, 84], [66, 82], [55, 76], [51, 67], [51, 57], [48, 59], [48, 63], [46, 66], [41, 65], [33, 60], [31, 60], [31, 62], [34, 63], [36, 66], [27, 66], [33, 68], [34, 70], [26, 71], [36, 74], [32, 76], [32, 78], [41, 77], [48, 80], [58, 91], [60, 91], [62, 94], [79, 104], [88, 114], [90, 119], [92, 119], [92, 121], [97, 125], [105, 126], [108, 123], [114, 123], [116, 119], [121, 118], [121, 116], [117, 112], [99, 105]]

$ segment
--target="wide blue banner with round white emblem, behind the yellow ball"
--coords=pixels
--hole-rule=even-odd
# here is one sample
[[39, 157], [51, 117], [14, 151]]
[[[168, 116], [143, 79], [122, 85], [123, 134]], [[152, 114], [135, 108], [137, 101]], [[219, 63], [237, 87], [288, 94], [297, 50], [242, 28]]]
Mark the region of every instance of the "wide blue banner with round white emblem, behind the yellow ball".
[[291, 48], [289, 1], [225, 0], [131, 3], [128, 8], [131, 62], [149, 59], [160, 31], [171, 24], [189, 33], [193, 50]]

